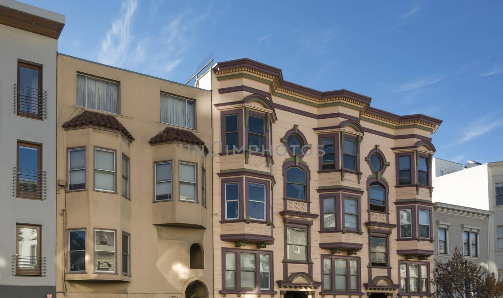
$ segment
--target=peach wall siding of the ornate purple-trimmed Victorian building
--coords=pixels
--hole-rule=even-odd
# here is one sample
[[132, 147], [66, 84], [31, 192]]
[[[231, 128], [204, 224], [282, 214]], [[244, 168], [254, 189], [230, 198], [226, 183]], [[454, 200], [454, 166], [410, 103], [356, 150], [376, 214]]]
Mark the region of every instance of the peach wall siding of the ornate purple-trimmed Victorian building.
[[[215, 67], [217, 68], [217, 67]], [[246, 69], [240, 68], [237, 70], [239, 74], [244, 72], [245, 75], [248, 76], [255, 76], [255, 77], [260, 77], [257, 75], [257, 72], [254, 71], [249, 71], [247, 72]], [[267, 93], [273, 94], [274, 90], [271, 90], [269, 84], [265, 84], [263, 82], [258, 82], [257, 80], [251, 80], [248, 78], [242, 78], [238, 77], [236, 75], [235, 78], [228, 78], [228, 79], [222, 79], [222, 80], [217, 80], [219, 77], [223, 77], [224, 75], [228, 75], [225, 71], [223, 72], [222, 75], [219, 75], [217, 72], [214, 80], [213, 80], [213, 102], [214, 104], [223, 104], [226, 102], [235, 102], [235, 101], [241, 101], [245, 97], [253, 94], [251, 92], [245, 92], [245, 91], [237, 91], [237, 92], [230, 92], [230, 93], [223, 93], [220, 94], [217, 92], [218, 89], [222, 88], [229, 88], [229, 87], [235, 87], [235, 86], [241, 86], [244, 85], [246, 87], [251, 87], [258, 89], [260, 91], [264, 91]], [[265, 80], [265, 81], [272, 81], [272, 77], [260, 77], [258, 80]], [[275, 84], [277, 81], [275, 81]], [[276, 85], [275, 85], [276, 86]], [[277, 86], [276, 86], [277, 87]], [[277, 92], [277, 91], [274, 91]], [[292, 92], [289, 94], [289, 96], [295, 96], [299, 94], [295, 94], [295, 92]], [[279, 104], [283, 106], [287, 106], [290, 108], [295, 108], [301, 111], [313, 113], [313, 114], [327, 114], [327, 113], [337, 113], [341, 112], [350, 116], [354, 117], [360, 117], [361, 112], [349, 108], [347, 106], [343, 105], [333, 105], [333, 106], [327, 106], [327, 107], [313, 107], [310, 105], [302, 104], [293, 100], [285, 99], [283, 97], [279, 97], [276, 95], [272, 95], [272, 101], [274, 104]], [[257, 106], [258, 108], [263, 108], [262, 105], [253, 102], [251, 105]], [[213, 140], [214, 142], [219, 142], [222, 141], [220, 139], [220, 133], [221, 129], [223, 129], [221, 126], [221, 117], [220, 117], [220, 112], [224, 110], [235, 110], [239, 109], [239, 107], [233, 106], [229, 107], [227, 109], [225, 108], [218, 108], [218, 107], [213, 107]], [[244, 108], [241, 108], [244, 110]], [[253, 107], [249, 107], [249, 110], [254, 110]], [[367, 265], [369, 263], [369, 234], [368, 234], [368, 229], [365, 227], [365, 222], [368, 221], [368, 192], [367, 192], [367, 185], [366, 181], [367, 178], [372, 174], [369, 165], [365, 161], [365, 158], [369, 154], [371, 150], [375, 148], [375, 145], [379, 145], [379, 149], [381, 152], [385, 155], [386, 160], [390, 163], [390, 166], [387, 167], [387, 169], [384, 172], [383, 177], [385, 180], [388, 182], [389, 185], [389, 197], [388, 197], [388, 204], [389, 204], [389, 223], [391, 224], [396, 224], [396, 206], [394, 204], [396, 199], [422, 199], [431, 202], [431, 197], [428, 189], [421, 188], [419, 194], [416, 194], [416, 188], [415, 187], [408, 187], [408, 188], [396, 188], [395, 189], [395, 153], [392, 152], [391, 148], [393, 147], [403, 147], [403, 146], [413, 146], [414, 143], [420, 139], [415, 138], [415, 137], [410, 137], [407, 139], [393, 139], [389, 137], [383, 137], [377, 134], [373, 134], [370, 132], [365, 132], [361, 147], [360, 147], [360, 170], [363, 173], [361, 177], [361, 182], [358, 183], [358, 178], [357, 175], [355, 174], [350, 174], [346, 173], [344, 177], [344, 181], [341, 181], [341, 173], [323, 173], [320, 174], [318, 173], [318, 157], [315, 155], [315, 147], [318, 145], [318, 135], [313, 131], [313, 128], [315, 127], [326, 127], [326, 126], [336, 126], [340, 125], [343, 121], [345, 121], [345, 118], [326, 118], [326, 119], [316, 119], [312, 117], [307, 117], [300, 115], [298, 113], [292, 113], [290, 111], [286, 111], [280, 108], [276, 108], [276, 115], [277, 115], [277, 121], [275, 123], [271, 124], [271, 129], [272, 129], [272, 155], [273, 155], [273, 160], [274, 164], [271, 164], [270, 167], [266, 166], [266, 158], [264, 157], [257, 157], [250, 155], [248, 163], [245, 163], [245, 159], [243, 155], [235, 155], [235, 156], [215, 156], [214, 157], [214, 164], [213, 164], [213, 197], [214, 197], [214, 204], [213, 204], [213, 213], [214, 213], [214, 295], [215, 296], [223, 296], [222, 293], [219, 291], [224, 289], [223, 283], [225, 282], [225, 277], [222, 276], [222, 248], [231, 248], [235, 249], [234, 243], [231, 241], [220, 241], [219, 235], [221, 234], [240, 234], [240, 233], [250, 233], [250, 234], [259, 234], [259, 235], [272, 235], [274, 237], [274, 244], [272, 245], [267, 245], [267, 248], [264, 248], [262, 250], [264, 251], [273, 251], [274, 254], [274, 289], [277, 291], [276, 295], [283, 296], [281, 291], [289, 291], [289, 290], [303, 290], [303, 291], [311, 291], [314, 293], [314, 296], [319, 296], [319, 292], [322, 290], [321, 287], [319, 288], [279, 288], [277, 281], [278, 280], [283, 280], [286, 279], [284, 277], [283, 273], [283, 265], [284, 265], [284, 258], [285, 256], [285, 251], [284, 251], [284, 246], [285, 246], [285, 235], [284, 235], [284, 223], [283, 223], [283, 218], [282, 215], [280, 214], [280, 211], [284, 210], [284, 197], [286, 196], [284, 194], [283, 188], [284, 188], [284, 176], [283, 176], [283, 162], [290, 158], [290, 156], [287, 154], [285, 156], [279, 156], [276, 154], [275, 148], [279, 145], [281, 145], [280, 139], [285, 136], [285, 133], [292, 129], [294, 124], [298, 125], [298, 130], [301, 131], [306, 139], [307, 143], [311, 144], [313, 146], [312, 155], [311, 156], [306, 156], [302, 158], [302, 160], [308, 165], [309, 170], [310, 170], [310, 187], [309, 187], [309, 193], [310, 193], [310, 213], [315, 213], [315, 214], [320, 214], [320, 208], [319, 208], [319, 194], [316, 191], [318, 187], [322, 186], [333, 186], [333, 185], [344, 185], [347, 187], [353, 187], [353, 188], [358, 188], [363, 190], [363, 195], [361, 198], [361, 217], [359, 220], [361, 221], [361, 226], [363, 230], [363, 235], [359, 236], [358, 234], [342, 234], [342, 233], [330, 233], [330, 234], [321, 234], [318, 233], [320, 231], [320, 220], [319, 217], [314, 219], [312, 221], [312, 226], [310, 227], [310, 247], [311, 247], [311, 259], [313, 262], [313, 278], [315, 281], [322, 281], [322, 276], [321, 276], [321, 254], [330, 254], [330, 250], [327, 249], [320, 249], [319, 243], [320, 242], [349, 242], [349, 243], [361, 243], [363, 244], [363, 249], [358, 252], [356, 257], [360, 257], [360, 265], [361, 265], [361, 289], [362, 292], [369, 292], [365, 290], [365, 287], [363, 286], [363, 283], [371, 282], [371, 280], [368, 280], [368, 271], [369, 269], [367, 268]], [[243, 118], [245, 118], [245, 113], [243, 111]], [[243, 119], [244, 122], [244, 119]], [[378, 130], [384, 133], [388, 133], [391, 135], [403, 135], [403, 134], [418, 134], [426, 137], [430, 137], [431, 132], [426, 131], [424, 129], [419, 129], [419, 128], [403, 128], [403, 129], [393, 129], [390, 128], [389, 126], [384, 126], [384, 125], [379, 125], [373, 122], [361, 120], [360, 124], [364, 128], [370, 128], [374, 130]], [[349, 128], [351, 129], [351, 128]], [[243, 123], [243, 130], [244, 130], [244, 123]], [[243, 138], [246, 138], [247, 136], [245, 135], [243, 131]], [[336, 146], [340, 147], [340, 144], [336, 143]], [[280, 150], [280, 152], [285, 152], [285, 150]], [[336, 156], [336, 158], [338, 158]], [[273, 225], [271, 227], [268, 227], [264, 224], [260, 223], [221, 223], [220, 220], [222, 218], [222, 211], [221, 211], [221, 195], [222, 195], [222, 189], [221, 189], [221, 178], [219, 178], [218, 173], [224, 171], [224, 170], [232, 170], [232, 169], [249, 169], [249, 170], [258, 170], [258, 171], [263, 171], [270, 173], [271, 175], [274, 176], [274, 179], [276, 180], [276, 184], [272, 187], [272, 222]], [[431, 172], [431, 171], [430, 171]], [[236, 175], [237, 177], [237, 175]], [[240, 176], [243, 177], [243, 176]], [[244, 175], [244, 177], [247, 177]], [[226, 177], [227, 178], [227, 177]], [[222, 178], [223, 179], [223, 178]], [[244, 191], [244, 185], [243, 185], [243, 191]], [[244, 208], [246, 208], [246, 204], [244, 204]], [[244, 210], [244, 214], [246, 214], [246, 210]], [[323, 214], [320, 214], [322, 217]], [[432, 216], [432, 215], [431, 215]], [[407, 241], [407, 242], [397, 242], [397, 229], [393, 229], [392, 233], [389, 237], [389, 253], [390, 253], [390, 266], [391, 268], [391, 278], [395, 284], [399, 284], [399, 267], [398, 267], [398, 260], [405, 260], [405, 256], [403, 255], [397, 255], [396, 250], [397, 249], [420, 249], [420, 250], [433, 250], [433, 244], [430, 241], [421, 241], [418, 242], [417, 240], [414, 239], [414, 241]], [[253, 249], [257, 250], [256, 244], [255, 243], [247, 243], [243, 247], [239, 247], [238, 249]], [[347, 256], [347, 252], [343, 251], [341, 256]], [[415, 260], [412, 261], [418, 261], [417, 257]], [[429, 257], [429, 259], [425, 262], [430, 262], [430, 264], [433, 264], [433, 256]], [[430, 266], [431, 270], [433, 270], [433, 266]], [[287, 269], [287, 274], [286, 276], [289, 276], [293, 272], [308, 272], [307, 269], [308, 266], [304, 264], [289, 264], [288, 269]], [[239, 270], [239, 268], [237, 269]], [[379, 275], [387, 275], [387, 269], [372, 269], [372, 276], [376, 277]], [[433, 278], [433, 274], [431, 275]], [[376, 291], [379, 292], [379, 291]], [[395, 291], [396, 295], [398, 292]], [[270, 296], [270, 294], [262, 294], [262, 296]], [[227, 297], [237, 297], [238, 294], [234, 293], [227, 293]], [[241, 294], [241, 297], [256, 297], [256, 293], [249, 293], [249, 294]], [[338, 294], [337, 295], [342, 296], [342, 297], [347, 297], [348, 295], [344, 294]]]

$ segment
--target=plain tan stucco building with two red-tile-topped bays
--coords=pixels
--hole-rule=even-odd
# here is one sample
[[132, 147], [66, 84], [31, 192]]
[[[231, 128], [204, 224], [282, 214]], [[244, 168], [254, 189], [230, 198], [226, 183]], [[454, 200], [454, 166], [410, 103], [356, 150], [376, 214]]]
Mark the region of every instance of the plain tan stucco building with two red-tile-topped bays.
[[58, 297], [211, 296], [211, 93], [57, 62]]

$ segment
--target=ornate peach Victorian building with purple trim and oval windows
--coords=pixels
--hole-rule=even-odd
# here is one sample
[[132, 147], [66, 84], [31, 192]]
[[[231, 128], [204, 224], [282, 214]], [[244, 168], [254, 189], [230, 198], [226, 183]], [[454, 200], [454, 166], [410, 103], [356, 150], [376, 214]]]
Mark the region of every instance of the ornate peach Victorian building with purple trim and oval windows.
[[214, 295], [431, 293], [441, 120], [250, 59], [213, 72]]

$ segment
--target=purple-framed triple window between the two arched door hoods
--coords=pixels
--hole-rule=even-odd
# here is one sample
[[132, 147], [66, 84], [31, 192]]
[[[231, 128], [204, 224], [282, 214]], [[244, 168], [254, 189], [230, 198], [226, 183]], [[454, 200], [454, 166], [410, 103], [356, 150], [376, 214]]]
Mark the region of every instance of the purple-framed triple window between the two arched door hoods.
[[323, 290], [348, 292], [359, 290], [359, 260], [329, 257], [323, 259]]

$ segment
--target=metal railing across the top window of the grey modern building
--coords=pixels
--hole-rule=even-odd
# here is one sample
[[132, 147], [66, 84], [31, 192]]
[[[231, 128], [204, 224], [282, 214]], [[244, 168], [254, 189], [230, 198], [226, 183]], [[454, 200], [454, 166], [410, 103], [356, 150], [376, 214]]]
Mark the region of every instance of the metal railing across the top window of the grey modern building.
[[47, 118], [47, 91], [14, 84], [14, 113]]

